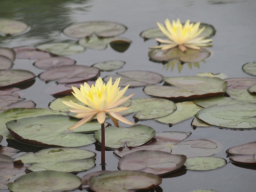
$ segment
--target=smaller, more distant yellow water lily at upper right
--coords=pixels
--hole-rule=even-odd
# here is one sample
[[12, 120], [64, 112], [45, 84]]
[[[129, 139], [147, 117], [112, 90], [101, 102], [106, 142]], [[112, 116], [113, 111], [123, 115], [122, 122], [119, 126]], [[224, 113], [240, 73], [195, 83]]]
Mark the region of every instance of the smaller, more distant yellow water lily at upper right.
[[169, 39], [155, 38], [158, 42], [165, 43], [166, 45], [159, 45], [155, 47], [150, 47], [150, 49], [161, 48], [161, 49], [171, 49], [178, 46], [181, 51], [186, 51], [186, 47], [191, 49], [200, 49], [201, 46], [212, 45], [212, 39], [204, 39], [204, 37], [198, 37], [205, 27], [199, 29], [200, 22], [190, 23], [189, 20], [186, 21], [184, 26], [180, 23], [180, 19], [173, 20], [173, 24], [166, 19], [165, 25], [157, 22], [159, 29], [166, 35]]

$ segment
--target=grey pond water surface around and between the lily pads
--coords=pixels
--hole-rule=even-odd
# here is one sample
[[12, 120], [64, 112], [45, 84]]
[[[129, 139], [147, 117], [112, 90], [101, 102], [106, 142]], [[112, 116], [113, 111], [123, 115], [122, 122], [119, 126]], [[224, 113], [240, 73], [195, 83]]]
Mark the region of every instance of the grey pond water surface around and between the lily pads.
[[[256, 60], [256, 1], [255, 0], [1, 0], [0, 17], [21, 20], [31, 26], [29, 32], [21, 36], [0, 37], [0, 47], [36, 46], [46, 42], [76, 42], [61, 31], [74, 23], [106, 20], [118, 22], [128, 27], [122, 37], [132, 41], [124, 53], [108, 47], [103, 51], [86, 49], [80, 54], [69, 56], [77, 65], [91, 66], [94, 63], [122, 60], [123, 68], [101, 72], [101, 77], [114, 75], [118, 71], [146, 70], [163, 76], [195, 76], [200, 72], [213, 74], [223, 73], [227, 78], [253, 78], [242, 71], [242, 65]], [[213, 25], [216, 29], [213, 47], [207, 48], [211, 56], [200, 63], [200, 67], [189, 68], [187, 64], [179, 71], [177, 67], [165, 69], [162, 64], [154, 63], [148, 58], [148, 47], [155, 46], [154, 39], [147, 40], [139, 36], [141, 31], [157, 27], [156, 22], [164, 22], [166, 18], [182, 22], [190, 19]], [[38, 75], [43, 69], [32, 64], [35, 60], [14, 60], [13, 69], [27, 69]], [[54, 100], [46, 94], [54, 82], [45, 83], [36, 78], [34, 85], [19, 92], [22, 98], [33, 100], [36, 107], [48, 108]], [[149, 97], [142, 88], [131, 88], [127, 95], [135, 93], [132, 98]], [[132, 115], [128, 116], [132, 121]], [[218, 156], [227, 160], [227, 165], [210, 171], [190, 171], [178, 173], [163, 179], [157, 191], [189, 192], [198, 189], [211, 189], [218, 192], [254, 192], [256, 171], [238, 167], [229, 162], [225, 151], [233, 146], [255, 141], [255, 130], [230, 130], [218, 127], [198, 127], [193, 129], [191, 119], [169, 127], [156, 121], [141, 121], [143, 125], [153, 127], [156, 132], [181, 131], [192, 134], [187, 140], [211, 139], [218, 141], [223, 148]], [[4, 125], [1, 125], [4, 126]], [[121, 126], [126, 126], [121, 124]], [[7, 141], [1, 145], [6, 146]], [[10, 146], [10, 144], [9, 144]], [[95, 151], [95, 145], [83, 147]], [[106, 170], [117, 170], [118, 157], [112, 151], [106, 152]], [[97, 166], [88, 172], [101, 170], [100, 153], [97, 152]], [[86, 172], [79, 173], [83, 176]], [[162, 190], [161, 190], [162, 188]], [[0, 190], [7, 191], [7, 190]], [[79, 191], [79, 190], [77, 190]], [[85, 190], [86, 191], [86, 190]]]

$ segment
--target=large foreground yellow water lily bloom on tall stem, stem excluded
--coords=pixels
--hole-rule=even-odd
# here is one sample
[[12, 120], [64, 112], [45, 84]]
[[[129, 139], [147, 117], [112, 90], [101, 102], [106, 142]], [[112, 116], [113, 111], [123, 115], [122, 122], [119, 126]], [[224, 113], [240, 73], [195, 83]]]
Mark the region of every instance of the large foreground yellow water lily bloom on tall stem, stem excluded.
[[129, 109], [129, 107], [118, 106], [134, 95], [131, 94], [130, 96], [122, 98], [129, 85], [120, 90], [120, 87], [118, 87], [119, 82], [120, 78], [117, 78], [112, 85], [112, 78], [110, 78], [108, 83], [105, 84], [101, 78], [98, 78], [95, 85], [92, 85], [91, 87], [86, 82], [84, 85], [80, 86], [80, 89], [72, 87], [72, 94], [87, 106], [79, 105], [72, 100], [63, 101], [65, 105], [73, 108], [70, 109], [70, 112], [77, 113], [76, 117], [78, 118], [83, 118], [68, 129], [75, 129], [84, 123], [91, 121], [95, 116], [97, 116], [99, 123], [103, 124], [106, 119], [106, 113], [110, 116], [116, 127], [119, 127], [118, 120], [126, 124], [134, 125], [134, 123], [118, 114], [118, 112]]

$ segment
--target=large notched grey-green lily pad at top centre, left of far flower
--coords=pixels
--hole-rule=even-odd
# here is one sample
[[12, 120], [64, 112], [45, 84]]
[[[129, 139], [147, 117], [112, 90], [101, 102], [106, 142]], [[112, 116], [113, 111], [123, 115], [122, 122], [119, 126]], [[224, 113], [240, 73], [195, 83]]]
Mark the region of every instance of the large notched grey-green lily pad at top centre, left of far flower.
[[126, 26], [116, 22], [91, 21], [70, 25], [63, 30], [63, 33], [72, 38], [85, 38], [94, 34], [106, 38], [121, 35], [126, 30]]

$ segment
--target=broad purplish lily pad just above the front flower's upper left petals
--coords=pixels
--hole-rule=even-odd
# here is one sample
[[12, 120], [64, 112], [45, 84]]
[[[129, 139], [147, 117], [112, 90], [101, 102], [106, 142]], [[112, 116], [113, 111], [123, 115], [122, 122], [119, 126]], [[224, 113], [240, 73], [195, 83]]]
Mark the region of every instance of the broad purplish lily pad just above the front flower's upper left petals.
[[97, 67], [84, 65], [70, 65], [54, 67], [39, 75], [45, 81], [58, 80], [57, 83], [75, 83], [86, 81], [99, 76], [100, 70]]

